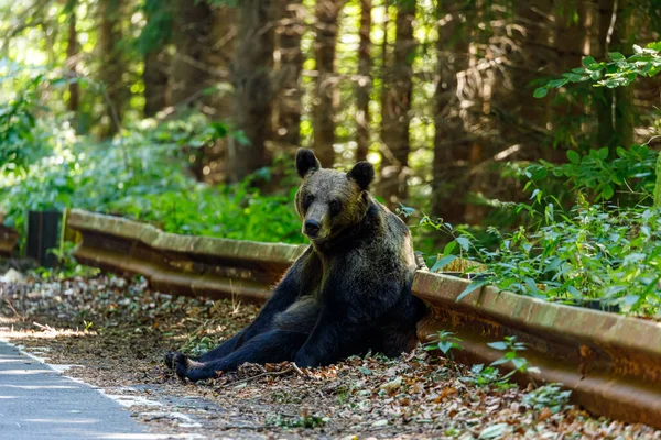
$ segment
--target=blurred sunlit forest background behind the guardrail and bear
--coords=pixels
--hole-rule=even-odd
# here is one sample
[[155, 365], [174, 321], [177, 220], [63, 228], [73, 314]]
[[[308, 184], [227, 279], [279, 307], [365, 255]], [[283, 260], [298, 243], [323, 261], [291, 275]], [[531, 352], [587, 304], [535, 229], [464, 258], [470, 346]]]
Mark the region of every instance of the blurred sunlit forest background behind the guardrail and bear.
[[299, 146], [480, 230], [522, 221], [521, 176], [572, 204], [548, 173], [567, 151], [628, 160], [588, 185], [626, 202], [614, 173], [653, 180], [660, 78], [533, 92], [660, 31], [659, 0], [0, 0], [0, 209], [300, 242]]

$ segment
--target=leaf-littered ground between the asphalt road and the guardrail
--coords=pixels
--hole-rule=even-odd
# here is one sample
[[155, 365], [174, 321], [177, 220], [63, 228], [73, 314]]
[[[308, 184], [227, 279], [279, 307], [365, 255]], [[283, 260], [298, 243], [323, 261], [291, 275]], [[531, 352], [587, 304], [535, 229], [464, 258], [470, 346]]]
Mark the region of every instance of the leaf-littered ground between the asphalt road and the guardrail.
[[[258, 307], [172, 297], [140, 278], [0, 282], [0, 339], [128, 403], [152, 430], [230, 439], [661, 439], [661, 431], [571, 405], [531, 407], [530, 389], [478, 386], [465, 366], [423, 349], [397, 360], [353, 358], [324, 369], [246, 365], [197, 384], [162, 362], [208, 349]], [[117, 397], [119, 395], [119, 397]], [[530, 399], [530, 397], [528, 397]], [[550, 404], [550, 406], [552, 406]]]

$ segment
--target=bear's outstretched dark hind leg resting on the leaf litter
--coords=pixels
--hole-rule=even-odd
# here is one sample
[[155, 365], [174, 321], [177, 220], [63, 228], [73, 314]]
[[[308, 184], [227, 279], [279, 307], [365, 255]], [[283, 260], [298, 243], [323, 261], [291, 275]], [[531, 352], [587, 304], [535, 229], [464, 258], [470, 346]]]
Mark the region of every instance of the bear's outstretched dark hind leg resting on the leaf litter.
[[307, 340], [306, 333], [285, 330], [271, 330], [254, 337], [243, 345], [212, 362], [197, 362], [177, 353], [173, 366], [177, 376], [193, 382], [216, 377], [219, 371], [234, 371], [246, 362], [256, 364], [293, 361], [299, 349]]

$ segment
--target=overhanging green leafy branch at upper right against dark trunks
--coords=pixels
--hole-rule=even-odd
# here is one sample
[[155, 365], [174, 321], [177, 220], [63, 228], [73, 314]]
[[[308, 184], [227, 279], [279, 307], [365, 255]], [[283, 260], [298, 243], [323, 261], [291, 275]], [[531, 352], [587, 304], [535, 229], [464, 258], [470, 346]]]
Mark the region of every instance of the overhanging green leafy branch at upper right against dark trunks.
[[534, 90], [535, 98], [544, 98], [550, 89], [560, 89], [568, 82], [593, 81], [595, 87], [629, 86], [638, 76], [653, 77], [661, 72], [661, 42], [650, 43], [644, 48], [635, 45], [635, 54], [626, 57], [619, 52], [608, 54], [610, 62], [597, 62], [592, 56], [583, 58], [583, 67], [563, 74]]

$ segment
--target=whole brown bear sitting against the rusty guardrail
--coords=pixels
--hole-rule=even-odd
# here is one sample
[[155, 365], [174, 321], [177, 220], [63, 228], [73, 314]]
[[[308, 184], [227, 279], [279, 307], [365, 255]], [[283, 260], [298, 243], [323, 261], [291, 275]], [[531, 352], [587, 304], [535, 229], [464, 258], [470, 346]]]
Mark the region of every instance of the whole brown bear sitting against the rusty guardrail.
[[368, 193], [375, 169], [322, 168], [296, 153], [296, 211], [312, 245], [289, 268], [257, 319], [199, 359], [169, 353], [180, 377], [199, 381], [246, 362], [327, 365], [371, 350], [398, 356], [415, 345], [424, 305], [411, 294], [416, 260], [407, 226]]

